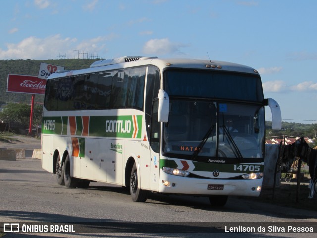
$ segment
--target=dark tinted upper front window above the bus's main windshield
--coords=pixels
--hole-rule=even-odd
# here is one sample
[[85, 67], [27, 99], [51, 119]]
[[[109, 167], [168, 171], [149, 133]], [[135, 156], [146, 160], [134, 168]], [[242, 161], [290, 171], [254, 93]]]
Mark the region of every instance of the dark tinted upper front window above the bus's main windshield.
[[168, 70], [164, 73], [164, 85], [170, 96], [263, 100], [261, 79], [257, 75]]

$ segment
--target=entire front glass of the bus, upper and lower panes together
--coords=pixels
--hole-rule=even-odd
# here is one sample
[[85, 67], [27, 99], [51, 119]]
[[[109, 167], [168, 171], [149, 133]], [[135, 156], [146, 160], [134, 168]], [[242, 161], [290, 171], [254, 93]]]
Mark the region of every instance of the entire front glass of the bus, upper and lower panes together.
[[[163, 153], [171, 157], [209, 162], [216, 158], [226, 163], [245, 159], [263, 161], [264, 107], [256, 103], [241, 104], [237, 100], [261, 100], [263, 94], [261, 84], [260, 88], [257, 87], [258, 78], [246, 77], [243, 80], [244, 77], [238, 75], [236, 80], [240, 83], [239, 87], [236, 85], [234, 93], [228, 93], [226, 88], [220, 87], [223, 82], [217, 83], [214, 79], [217, 76], [205, 72], [202, 74], [196, 72], [195, 77], [192, 75], [191, 84], [188, 81], [184, 83], [189, 89], [187, 91], [181, 86], [176, 87], [175, 83], [180, 83], [179, 78], [187, 73], [170, 71], [165, 74], [170, 112], [168, 123], [163, 126]], [[208, 81], [208, 77], [213, 80], [213, 84], [204, 83], [206, 87], [197, 87], [200, 89], [198, 92], [195, 85]], [[219, 78], [227, 83], [235, 80], [234, 74], [229, 77], [221, 75]], [[188, 75], [184, 80], [189, 80]], [[253, 90], [249, 83], [253, 83]], [[207, 100], [207, 97], [212, 99]], [[221, 100], [230, 97], [236, 102]]]

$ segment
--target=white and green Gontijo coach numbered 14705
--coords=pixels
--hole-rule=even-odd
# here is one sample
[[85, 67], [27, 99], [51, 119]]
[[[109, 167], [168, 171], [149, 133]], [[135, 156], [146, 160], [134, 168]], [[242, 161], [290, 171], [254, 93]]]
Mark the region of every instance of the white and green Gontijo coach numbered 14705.
[[259, 73], [228, 62], [157, 57], [96, 61], [52, 74], [46, 85], [42, 167], [66, 187], [126, 186], [209, 197], [259, 196], [265, 114]]

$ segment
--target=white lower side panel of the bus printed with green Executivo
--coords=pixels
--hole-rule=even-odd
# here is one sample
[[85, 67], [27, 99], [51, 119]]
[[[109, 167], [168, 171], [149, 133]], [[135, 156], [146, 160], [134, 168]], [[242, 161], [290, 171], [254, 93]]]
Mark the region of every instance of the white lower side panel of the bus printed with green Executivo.
[[122, 184], [123, 141], [108, 140], [107, 182]]

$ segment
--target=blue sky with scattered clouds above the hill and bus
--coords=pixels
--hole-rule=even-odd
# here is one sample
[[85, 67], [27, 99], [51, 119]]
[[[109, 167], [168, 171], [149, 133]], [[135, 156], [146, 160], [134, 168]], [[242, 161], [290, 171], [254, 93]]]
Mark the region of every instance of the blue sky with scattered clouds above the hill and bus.
[[264, 97], [279, 103], [283, 121], [312, 124], [316, 9], [316, 0], [1, 0], [0, 60], [157, 56], [244, 64], [259, 71]]

